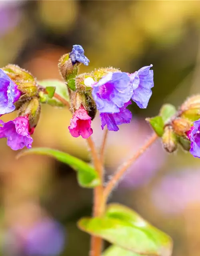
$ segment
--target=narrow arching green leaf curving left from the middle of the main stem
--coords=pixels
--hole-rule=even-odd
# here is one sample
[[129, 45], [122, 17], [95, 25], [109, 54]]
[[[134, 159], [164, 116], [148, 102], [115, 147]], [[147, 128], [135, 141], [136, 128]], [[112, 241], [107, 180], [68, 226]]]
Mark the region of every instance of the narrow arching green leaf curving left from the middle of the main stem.
[[56, 160], [68, 164], [77, 171], [78, 182], [82, 187], [93, 188], [100, 184], [100, 178], [98, 176], [98, 173], [92, 166], [67, 153], [51, 148], [31, 148], [29, 150], [22, 151], [20, 154], [18, 154], [17, 158], [28, 154], [52, 156], [56, 158]]

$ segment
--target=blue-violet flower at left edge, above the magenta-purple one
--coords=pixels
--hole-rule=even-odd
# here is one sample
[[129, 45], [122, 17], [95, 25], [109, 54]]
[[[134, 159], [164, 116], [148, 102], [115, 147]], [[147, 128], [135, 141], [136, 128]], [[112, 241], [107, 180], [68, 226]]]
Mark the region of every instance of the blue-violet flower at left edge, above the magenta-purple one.
[[15, 110], [14, 102], [20, 98], [17, 85], [0, 69], [0, 115]]

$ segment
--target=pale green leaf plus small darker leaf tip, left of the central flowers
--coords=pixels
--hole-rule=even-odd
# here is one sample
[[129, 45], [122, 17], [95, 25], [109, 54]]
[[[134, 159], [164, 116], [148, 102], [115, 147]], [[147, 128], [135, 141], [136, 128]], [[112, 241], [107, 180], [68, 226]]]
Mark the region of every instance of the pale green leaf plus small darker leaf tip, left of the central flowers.
[[68, 88], [66, 84], [60, 80], [46, 79], [38, 82], [39, 85], [46, 88], [48, 94], [40, 94], [40, 102], [45, 102], [51, 106], [64, 106], [64, 104], [55, 97], [52, 97], [52, 88], [55, 88], [54, 93], [60, 96], [62, 99], [70, 102], [70, 97], [68, 93]]

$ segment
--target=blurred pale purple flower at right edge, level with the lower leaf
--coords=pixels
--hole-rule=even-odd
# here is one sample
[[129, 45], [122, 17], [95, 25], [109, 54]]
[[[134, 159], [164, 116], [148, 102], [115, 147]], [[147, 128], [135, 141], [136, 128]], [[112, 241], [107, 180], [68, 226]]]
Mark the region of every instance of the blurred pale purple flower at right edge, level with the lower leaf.
[[188, 204], [200, 202], [200, 171], [188, 169], [166, 175], [154, 188], [152, 200], [164, 214], [180, 214]]

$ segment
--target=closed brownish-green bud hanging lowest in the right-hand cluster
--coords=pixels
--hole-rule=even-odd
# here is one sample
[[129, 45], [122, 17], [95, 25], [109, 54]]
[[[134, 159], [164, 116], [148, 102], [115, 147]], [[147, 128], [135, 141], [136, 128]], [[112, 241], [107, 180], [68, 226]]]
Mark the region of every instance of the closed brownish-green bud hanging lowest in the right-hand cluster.
[[164, 149], [169, 153], [177, 149], [177, 138], [172, 126], [165, 127], [164, 134], [162, 135], [162, 144]]

